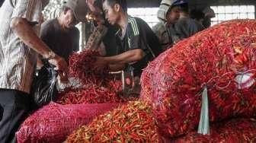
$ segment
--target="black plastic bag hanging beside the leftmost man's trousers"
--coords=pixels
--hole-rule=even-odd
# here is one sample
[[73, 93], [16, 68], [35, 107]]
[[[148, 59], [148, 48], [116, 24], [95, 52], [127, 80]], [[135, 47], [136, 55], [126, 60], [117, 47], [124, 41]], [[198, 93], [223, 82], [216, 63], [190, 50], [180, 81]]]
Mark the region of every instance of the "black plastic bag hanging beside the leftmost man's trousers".
[[56, 99], [57, 71], [53, 65], [44, 61], [43, 67], [37, 72], [31, 88], [31, 94], [34, 97], [34, 107], [46, 105]]

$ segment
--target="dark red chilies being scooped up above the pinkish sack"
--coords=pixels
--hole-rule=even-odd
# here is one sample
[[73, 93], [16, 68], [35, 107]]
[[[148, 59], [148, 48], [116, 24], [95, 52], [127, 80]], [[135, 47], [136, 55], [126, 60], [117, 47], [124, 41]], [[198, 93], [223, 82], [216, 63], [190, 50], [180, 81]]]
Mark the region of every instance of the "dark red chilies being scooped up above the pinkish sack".
[[93, 70], [98, 52], [87, 49], [69, 57], [69, 77], [79, 79], [84, 86], [68, 87], [58, 95], [57, 103], [120, 103], [136, 98], [123, 98], [122, 82], [114, 80], [108, 68]]

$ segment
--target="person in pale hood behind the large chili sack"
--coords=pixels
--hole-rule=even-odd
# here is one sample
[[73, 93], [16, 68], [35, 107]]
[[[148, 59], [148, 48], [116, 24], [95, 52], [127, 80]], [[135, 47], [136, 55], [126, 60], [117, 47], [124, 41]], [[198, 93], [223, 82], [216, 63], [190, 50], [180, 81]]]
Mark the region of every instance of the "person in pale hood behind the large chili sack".
[[179, 37], [174, 30], [174, 24], [180, 17], [180, 7], [182, 2], [179, 0], [162, 0], [158, 10], [159, 23], [152, 27], [156, 36], [162, 44], [162, 49], [168, 49], [174, 43], [178, 43]]

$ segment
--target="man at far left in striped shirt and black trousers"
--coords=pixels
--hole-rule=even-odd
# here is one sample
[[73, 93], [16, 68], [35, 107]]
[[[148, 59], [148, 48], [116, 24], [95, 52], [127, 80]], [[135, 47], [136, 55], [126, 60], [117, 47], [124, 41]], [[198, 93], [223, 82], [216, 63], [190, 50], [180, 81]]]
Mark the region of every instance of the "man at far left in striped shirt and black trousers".
[[39, 37], [41, 11], [48, 0], [9, 0], [0, 8], [0, 142], [15, 142], [14, 134], [30, 106], [30, 84], [37, 54], [56, 66], [66, 79], [67, 64]]

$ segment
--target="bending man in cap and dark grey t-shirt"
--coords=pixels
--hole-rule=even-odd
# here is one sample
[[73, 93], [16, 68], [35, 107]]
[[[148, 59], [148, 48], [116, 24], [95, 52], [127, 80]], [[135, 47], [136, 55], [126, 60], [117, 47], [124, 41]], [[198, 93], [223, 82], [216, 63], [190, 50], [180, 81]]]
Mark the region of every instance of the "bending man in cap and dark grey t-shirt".
[[79, 50], [78, 22], [85, 22], [85, 0], [68, 0], [59, 17], [42, 24], [40, 37], [57, 55], [68, 61], [72, 52]]

